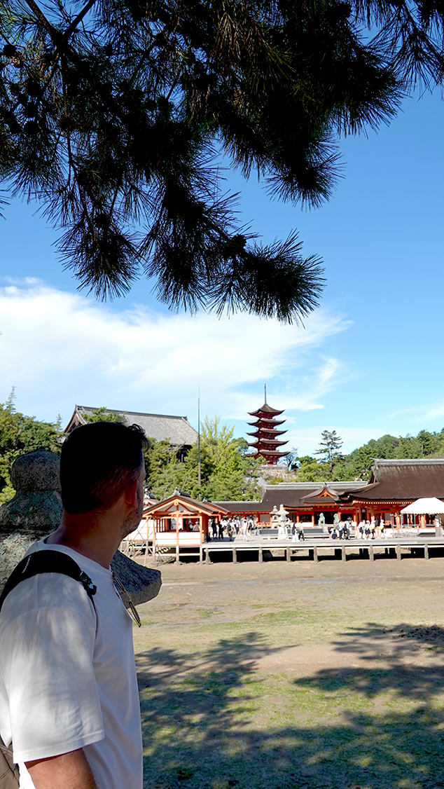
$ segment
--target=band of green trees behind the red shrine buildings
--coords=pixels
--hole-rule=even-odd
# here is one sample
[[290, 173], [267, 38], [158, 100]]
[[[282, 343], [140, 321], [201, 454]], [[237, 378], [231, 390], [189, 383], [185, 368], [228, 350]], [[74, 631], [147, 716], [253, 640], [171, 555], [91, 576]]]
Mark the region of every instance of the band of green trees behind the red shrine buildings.
[[[117, 420], [98, 409], [89, 421]], [[201, 424], [200, 481], [199, 451], [191, 448], [184, 462], [177, 458], [177, 447], [168, 440], [156, 441], [148, 436], [145, 465], [146, 485], [157, 499], [166, 498], [177, 488], [198, 499], [245, 501], [262, 498], [263, 468], [248, 454], [243, 438], [233, 437], [234, 428], [222, 424], [218, 417], [205, 418]], [[0, 403], [0, 504], [14, 495], [10, 470], [13, 461], [24, 452], [43, 448], [60, 452], [62, 424], [42, 422], [16, 410], [14, 393]], [[282, 478], [268, 477], [268, 484], [285, 481], [368, 481], [375, 458], [444, 457], [444, 428], [440, 432], [420, 430], [417, 436], [381, 436], [371, 439], [349, 454], [341, 454], [341, 437], [324, 431], [315, 455], [299, 456], [293, 450], [282, 466]], [[284, 473], [285, 471], [285, 473]], [[263, 483], [262, 483], [263, 484]]]

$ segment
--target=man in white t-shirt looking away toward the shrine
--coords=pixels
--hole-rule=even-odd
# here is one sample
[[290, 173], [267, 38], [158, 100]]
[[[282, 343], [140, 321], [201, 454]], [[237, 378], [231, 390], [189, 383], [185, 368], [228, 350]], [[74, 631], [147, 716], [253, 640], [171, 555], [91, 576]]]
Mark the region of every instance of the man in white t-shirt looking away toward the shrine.
[[97, 586], [60, 573], [27, 578], [0, 615], [0, 733], [23, 789], [142, 789], [132, 620], [110, 561], [140, 522], [144, 434], [97, 422], [62, 446], [63, 514], [28, 553], [68, 554]]

